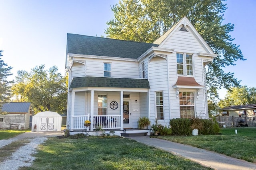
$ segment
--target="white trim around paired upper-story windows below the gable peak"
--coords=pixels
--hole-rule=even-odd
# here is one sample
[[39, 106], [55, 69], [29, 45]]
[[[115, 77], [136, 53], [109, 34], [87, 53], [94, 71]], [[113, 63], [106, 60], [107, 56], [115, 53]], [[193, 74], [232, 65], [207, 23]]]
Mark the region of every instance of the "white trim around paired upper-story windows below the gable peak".
[[[183, 64], [177, 62], [177, 54], [182, 54]], [[191, 55], [192, 57], [192, 64], [187, 64], [187, 55]], [[182, 65], [183, 74], [178, 74], [178, 64]], [[192, 66], [192, 75], [188, 75], [187, 66]], [[177, 52], [176, 53], [176, 72], [178, 76], [194, 76], [194, 55], [192, 53], [184, 53], [184, 52]]]

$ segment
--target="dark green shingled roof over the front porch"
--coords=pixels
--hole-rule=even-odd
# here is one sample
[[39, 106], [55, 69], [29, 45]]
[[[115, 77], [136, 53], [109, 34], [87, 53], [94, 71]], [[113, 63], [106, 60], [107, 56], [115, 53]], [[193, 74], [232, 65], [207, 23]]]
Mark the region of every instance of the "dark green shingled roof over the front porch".
[[147, 79], [89, 76], [73, 78], [70, 88], [78, 87], [150, 88]]

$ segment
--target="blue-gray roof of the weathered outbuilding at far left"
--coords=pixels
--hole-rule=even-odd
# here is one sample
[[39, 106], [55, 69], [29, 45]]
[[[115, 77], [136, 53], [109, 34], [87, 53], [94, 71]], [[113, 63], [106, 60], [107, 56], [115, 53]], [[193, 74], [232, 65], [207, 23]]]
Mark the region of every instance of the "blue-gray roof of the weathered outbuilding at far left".
[[28, 102], [10, 102], [3, 104], [2, 111], [7, 113], [28, 113], [29, 107], [30, 103]]

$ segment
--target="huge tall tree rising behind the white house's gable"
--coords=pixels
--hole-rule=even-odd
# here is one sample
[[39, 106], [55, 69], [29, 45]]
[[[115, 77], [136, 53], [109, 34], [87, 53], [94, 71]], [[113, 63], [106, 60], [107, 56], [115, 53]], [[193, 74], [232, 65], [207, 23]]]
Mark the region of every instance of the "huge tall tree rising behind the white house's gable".
[[226, 4], [222, 0], [120, 0], [111, 7], [114, 19], [107, 22], [107, 37], [152, 43], [186, 16], [218, 57], [208, 64], [206, 73], [209, 99], [218, 97], [217, 89], [239, 87], [234, 73], [223, 67], [245, 60], [239, 45], [229, 33], [234, 25], [222, 25]]

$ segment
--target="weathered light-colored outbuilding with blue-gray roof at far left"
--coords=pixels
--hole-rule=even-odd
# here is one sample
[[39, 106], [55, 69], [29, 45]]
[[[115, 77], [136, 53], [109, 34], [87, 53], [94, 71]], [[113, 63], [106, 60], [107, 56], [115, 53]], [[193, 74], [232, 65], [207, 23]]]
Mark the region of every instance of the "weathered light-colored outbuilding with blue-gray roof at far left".
[[28, 129], [31, 114], [31, 104], [24, 102], [4, 103], [0, 114], [0, 128], [18, 127], [19, 129]]

